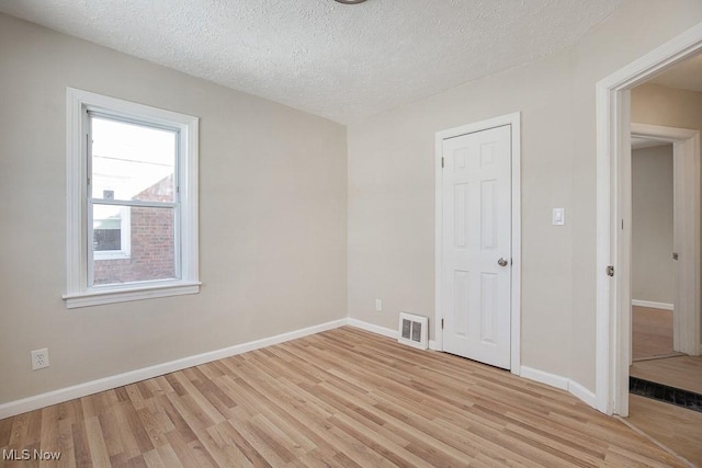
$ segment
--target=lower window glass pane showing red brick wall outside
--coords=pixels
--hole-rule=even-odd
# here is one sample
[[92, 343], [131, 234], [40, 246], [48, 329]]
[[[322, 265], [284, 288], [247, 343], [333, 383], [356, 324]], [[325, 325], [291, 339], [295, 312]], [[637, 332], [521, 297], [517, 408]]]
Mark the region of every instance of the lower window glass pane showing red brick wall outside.
[[[129, 244], [126, 256], [103, 256], [100, 252], [99, 233], [93, 228], [93, 285], [133, 283], [151, 279], [171, 279], [178, 277], [174, 256], [173, 208], [140, 206], [94, 205], [93, 220], [107, 208], [126, 212], [126, 229], [121, 236], [122, 250]], [[93, 226], [99, 221], [94, 220]]]

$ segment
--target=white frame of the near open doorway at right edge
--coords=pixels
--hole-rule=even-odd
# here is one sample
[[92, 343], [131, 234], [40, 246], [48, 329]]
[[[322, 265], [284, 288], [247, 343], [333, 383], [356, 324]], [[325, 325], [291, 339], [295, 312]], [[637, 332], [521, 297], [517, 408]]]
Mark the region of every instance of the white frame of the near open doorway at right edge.
[[608, 414], [629, 414], [631, 229], [621, 224], [631, 227], [630, 90], [701, 50], [698, 24], [597, 83], [596, 396]]

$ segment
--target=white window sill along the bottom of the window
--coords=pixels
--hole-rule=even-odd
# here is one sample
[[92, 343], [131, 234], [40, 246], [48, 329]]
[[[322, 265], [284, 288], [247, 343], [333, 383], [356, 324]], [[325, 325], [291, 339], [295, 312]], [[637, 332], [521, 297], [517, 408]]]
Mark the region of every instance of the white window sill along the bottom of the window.
[[201, 283], [197, 282], [178, 282], [148, 286], [129, 285], [128, 287], [111, 287], [104, 290], [92, 289], [76, 294], [65, 294], [64, 300], [66, 301], [67, 309], [76, 309], [79, 307], [101, 306], [104, 304], [152, 299], [155, 297], [197, 294], [200, 293], [200, 285]]

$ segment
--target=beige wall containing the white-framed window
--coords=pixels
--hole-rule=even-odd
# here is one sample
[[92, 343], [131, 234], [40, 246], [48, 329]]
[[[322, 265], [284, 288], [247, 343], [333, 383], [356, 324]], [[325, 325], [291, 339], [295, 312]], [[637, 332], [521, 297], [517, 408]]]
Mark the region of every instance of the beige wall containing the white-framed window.
[[[201, 117], [199, 295], [66, 309], [66, 87]], [[347, 316], [341, 125], [0, 15], [0, 403]]]

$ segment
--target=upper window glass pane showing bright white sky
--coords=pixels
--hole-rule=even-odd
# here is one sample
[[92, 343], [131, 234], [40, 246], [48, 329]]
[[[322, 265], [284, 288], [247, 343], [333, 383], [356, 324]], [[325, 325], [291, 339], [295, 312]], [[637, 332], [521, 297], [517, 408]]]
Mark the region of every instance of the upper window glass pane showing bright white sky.
[[93, 198], [174, 201], [177, 132], [90, 118]]

